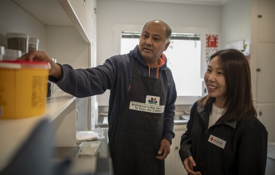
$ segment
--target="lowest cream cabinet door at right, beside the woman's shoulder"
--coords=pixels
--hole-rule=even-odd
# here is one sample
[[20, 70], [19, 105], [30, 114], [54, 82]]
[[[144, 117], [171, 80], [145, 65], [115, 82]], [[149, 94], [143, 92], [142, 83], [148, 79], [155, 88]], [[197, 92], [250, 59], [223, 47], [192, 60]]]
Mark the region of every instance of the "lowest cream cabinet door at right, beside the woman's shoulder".
[[268, 132], [268, 141], [275, 142], [275, 103], [257, 104], [258, 119], [265, 126]]

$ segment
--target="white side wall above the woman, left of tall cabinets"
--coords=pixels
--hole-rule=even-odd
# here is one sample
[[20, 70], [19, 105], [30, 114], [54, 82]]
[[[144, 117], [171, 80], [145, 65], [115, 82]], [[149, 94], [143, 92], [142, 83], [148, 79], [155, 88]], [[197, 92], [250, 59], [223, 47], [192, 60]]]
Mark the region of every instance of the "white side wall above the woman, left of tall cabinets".
[[[251, 34], [251, 15], [252, 10], [255, 7], [258, 7], [258, 4], [254, 4], [253, 6], [252, 0], [233, 0], [222, 8], [222, 47], [229, 42], [235, 42], [242, 39], [245, 40], [245, 44], [248, 45], [246, 52], [249, 53], [248, 61], [251, 69], [252, 93], [254, 100], [256, 98], [257, 74], [256, 71], [252, 70], [256, 70], [257, 59], [256, 57], [251, 57], [250, 53], [251, 36], [255, 35]], [[254, 26], [254, 28], [255, 27], [258, 26]]]

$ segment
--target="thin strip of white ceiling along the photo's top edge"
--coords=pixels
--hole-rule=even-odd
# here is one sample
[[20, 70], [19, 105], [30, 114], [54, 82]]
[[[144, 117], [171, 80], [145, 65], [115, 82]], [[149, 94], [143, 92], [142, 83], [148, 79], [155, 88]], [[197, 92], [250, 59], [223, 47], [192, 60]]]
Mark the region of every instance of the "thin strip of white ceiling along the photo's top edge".
[[125, 0], [125, 1], [187, 3], [187, 4], [199, 4], [199, 5], [224, 5], [232, 0]]

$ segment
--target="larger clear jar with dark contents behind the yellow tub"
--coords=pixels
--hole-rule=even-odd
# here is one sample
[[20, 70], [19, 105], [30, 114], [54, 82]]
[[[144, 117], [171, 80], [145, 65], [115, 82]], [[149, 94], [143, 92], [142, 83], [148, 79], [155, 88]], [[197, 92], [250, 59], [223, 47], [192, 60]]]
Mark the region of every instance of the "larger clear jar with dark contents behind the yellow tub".
[[29, 50], [29, 34], [22, 33], [7, 33], [8, 49], [19, 50], [23, 54], [28, 53]]

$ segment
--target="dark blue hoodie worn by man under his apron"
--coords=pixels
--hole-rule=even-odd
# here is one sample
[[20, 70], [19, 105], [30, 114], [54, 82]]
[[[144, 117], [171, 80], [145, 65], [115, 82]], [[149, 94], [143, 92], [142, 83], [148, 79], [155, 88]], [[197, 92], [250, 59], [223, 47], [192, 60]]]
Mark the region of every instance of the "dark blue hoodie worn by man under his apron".
[[[108, 111], [108, 123], [110, 125], [119, 115], [126, 101], [132, 80], [134, 59], [139, 63], [138, 73], [143, 76], [149, 76], [150, 72], [150, 77], [155, 78], [158, 70], [158, 76], [162, 78], [161, 70], [165, 68], [168, 79], [168, 92], [163, 123], [163, 139], [168, 139], [172, 143], [172, 139], [175, 137], [173, 127], [177, 91], [172, 72], [166, 65], [167, 59], [160, 69], [149, 68], [137, 45], [130, 53], [112, 56], [103, 65], [95, 68], [74, 70], [69, 65], [61, 65], [63, 78], [58, 82], [53, 77], [50, 77], [49, 80], [55, 82], [65, 92], [78, 98], [103, 94], [106, 89], [110, 89]], [[110, 135], [109, 140], [111, 140]]]

